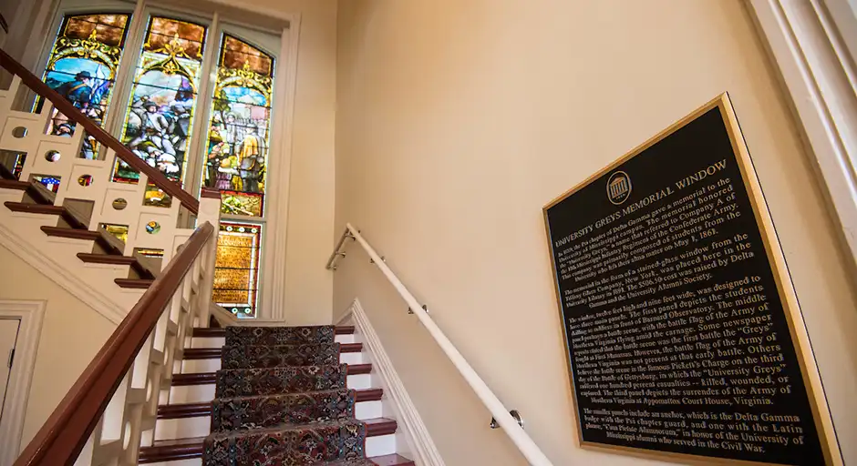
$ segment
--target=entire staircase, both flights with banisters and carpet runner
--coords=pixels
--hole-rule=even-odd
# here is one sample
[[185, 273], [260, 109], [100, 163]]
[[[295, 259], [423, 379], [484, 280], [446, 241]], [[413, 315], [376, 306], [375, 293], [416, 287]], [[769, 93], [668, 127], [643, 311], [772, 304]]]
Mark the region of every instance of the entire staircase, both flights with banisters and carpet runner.
[[[353, 327], [218, 318], [219, 192], [194, 198], [2, 50], [0, 66], [14, 75], [0, 90], [0, 162], [15, 159], [0, 163], [0, 237], [118, 324], [15, 466], [415, 464], [398, 455], [406, 442]], [[22, 86], [50, 106], [15, 109]], [[55, 111], [77, 123], [71, 137], [45, 134]], [[83, 130], [103, 157], [76, 157]], [[112, 179], [117, 157], [137, 184]], [[149, 184], [170, 207], [140, 202]], [[125, 241], [102, 225], [124, 226]], [[218, 322], [231, 326], [207, 327]]]

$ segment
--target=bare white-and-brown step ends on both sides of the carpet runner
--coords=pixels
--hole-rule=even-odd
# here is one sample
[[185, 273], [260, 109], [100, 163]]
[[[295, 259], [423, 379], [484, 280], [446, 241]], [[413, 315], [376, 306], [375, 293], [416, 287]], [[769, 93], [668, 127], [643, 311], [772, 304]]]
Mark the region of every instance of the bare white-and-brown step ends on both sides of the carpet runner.
[[[156, 440], [140, 449], [139, 464], [201, 465], [202, 441], [210, 430], [212, 416], [213, 395], [209, 398], [208, 394], [213, 393], [213, 370], [220, 367], [224, 335], [225, 329], [193, 329], [191, 348], [183, 351], [181, 373], [172, 375], [170, 399], [185, 401], [158, 407]], [[384, 390], [367, 386], [371, 384], [372, 364], [363, 362], [363, 344], [354, 340], [353, 326], [336, 327], [340, 362], [348, 365], [348, 388], [356, 390], [356, 416], [367, 425], [367, 456], [378, 466], [413, 466], [414, 461], [397, 452], [398, 423], [383, 416]], [[210, 370], [198, 371], [201, 368]], [[364, 379], [356, 380], [354, 376]], [[175, 438], [160, 438], [160, 430], [174, 431]]]

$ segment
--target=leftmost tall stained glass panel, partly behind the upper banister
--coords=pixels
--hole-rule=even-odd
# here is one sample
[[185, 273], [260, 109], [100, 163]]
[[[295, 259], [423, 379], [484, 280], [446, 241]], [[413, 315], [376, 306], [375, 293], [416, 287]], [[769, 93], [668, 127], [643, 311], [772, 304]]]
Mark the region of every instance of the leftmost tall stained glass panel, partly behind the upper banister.
[[[99, 126], [103, 126], [110, 104], [110, 91], [125, 46], [128, 21], [129, 15], [115, 13], [66, 15], [42, 78], [47, 86], [66, 97]], [[41, 111], [44, 103], [39, 97], [36, 111]], [[73, 121], [56, 109], [52, 110], [48, 134], [70, 137], [74, 129]], [[95, 137], [84, 135], [80, 157], [98, 157]]]

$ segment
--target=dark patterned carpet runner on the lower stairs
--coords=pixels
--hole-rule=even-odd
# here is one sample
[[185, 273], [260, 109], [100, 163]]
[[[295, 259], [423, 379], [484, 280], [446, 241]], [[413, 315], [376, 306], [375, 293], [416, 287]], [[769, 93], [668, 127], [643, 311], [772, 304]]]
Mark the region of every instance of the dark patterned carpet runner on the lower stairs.
[[203, 466], [374, 466], [332, 326], [228, 327]]

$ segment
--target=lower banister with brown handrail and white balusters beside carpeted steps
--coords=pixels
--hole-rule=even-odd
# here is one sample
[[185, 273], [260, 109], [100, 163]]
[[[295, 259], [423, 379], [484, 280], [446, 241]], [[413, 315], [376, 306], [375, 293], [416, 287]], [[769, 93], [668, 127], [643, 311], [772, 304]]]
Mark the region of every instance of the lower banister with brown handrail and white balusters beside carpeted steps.
[[[199, 318], [201, 307], [208, 305], [208, 297], [194, 296], [193, 290], [200, 289], [204, 277], [211, 277], [206, 268], [209, 268], [208, 258], [214, 254], [214, 233], [209, 222], [194, 231], [68, 390], [14, 466], [90, 464], [92, 458], [99, 458], [101, 461], [97, 462], [100, 463], [105, 455], [124, 456], [119, 464], [136, 462], [146, 419], [133, 418], [135, 415], [153, 416], [152, 406], [157, 410], [163, 389], [160, 381], [165, 378], [162, 372], [171, 371], [175, 351], [183, 348], [185, 332], [193, 326], [194, 318]], [[170, 319], [176, 316], [181, 319]], [[156, 327], [160, 343], [153, 341]], [[146, 343], [150, 346], [144, 347]], [[140, 355], [143, 355], [142, 360], [139, 360]], [[157, 370], [152, 366], [158, 366]], [[122, 393], [117, 393], [120, 386]], [[115, 395], [125, 399], [116, 399]], [[108, 404], [119, 408], [111, 410], [109, 415], [114, 419], [108, 420], [114, 427], [119, 420], [118, 432], [103, 425]], [[141, 412], [129, 413], [127, 405], [135, 405], [134, 410]], [[104, 451], [98, 451], [102, 447]], [[88, 458], [84, 458], [81, 451], [86, 451]], [[82, 461], [78, 461], [78, 455]]]

